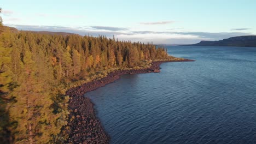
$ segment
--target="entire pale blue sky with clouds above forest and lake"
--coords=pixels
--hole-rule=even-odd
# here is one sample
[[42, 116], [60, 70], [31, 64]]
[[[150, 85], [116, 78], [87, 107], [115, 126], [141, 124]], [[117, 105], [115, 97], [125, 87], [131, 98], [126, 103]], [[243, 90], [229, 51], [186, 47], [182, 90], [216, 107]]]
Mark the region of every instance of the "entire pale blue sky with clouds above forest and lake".
[[256, 1], [1, 0], [5, 26], [106, 35], [154, 44], [194, 44], [256, 34]]

